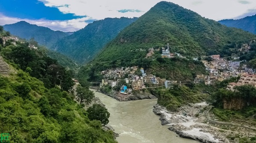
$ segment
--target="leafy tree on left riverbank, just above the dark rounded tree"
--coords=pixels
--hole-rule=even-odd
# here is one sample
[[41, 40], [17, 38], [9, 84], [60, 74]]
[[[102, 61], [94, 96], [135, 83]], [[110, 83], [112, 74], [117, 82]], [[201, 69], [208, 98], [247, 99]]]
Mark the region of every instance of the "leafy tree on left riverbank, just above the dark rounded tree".
[[76, 95], [80, 99], [80, 104], [84, 102], [87, 105], [92, 102], [94, 97], [93, 91], [90, 91], [88, 88], [81, 87], [81, 86], [78, 86], [76, 88]]

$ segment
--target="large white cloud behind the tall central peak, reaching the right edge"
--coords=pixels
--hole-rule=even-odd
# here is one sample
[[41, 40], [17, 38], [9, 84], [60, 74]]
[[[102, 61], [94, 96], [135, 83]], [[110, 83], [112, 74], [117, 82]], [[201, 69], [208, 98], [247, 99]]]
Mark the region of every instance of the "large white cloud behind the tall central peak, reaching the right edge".
[[[161, 0], [41, 0], [45, 6], [58, 7], [63, 13], [89, 16], [96, 20], [106, 17], [140, 17]], [[203, 17], [222, 20], [246, 14], [256, 9], [256, 0], [167, 0], [191, 9]], [[64, 5], [69, 6], [64, 6]], [[118, 10], [131, 9], [143, 12], [121, 13]]]

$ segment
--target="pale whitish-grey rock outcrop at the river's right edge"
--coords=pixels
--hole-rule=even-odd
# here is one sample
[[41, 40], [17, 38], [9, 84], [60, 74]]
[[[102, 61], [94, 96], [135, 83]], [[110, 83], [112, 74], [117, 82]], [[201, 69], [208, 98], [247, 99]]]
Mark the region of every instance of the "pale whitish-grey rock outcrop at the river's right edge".
[[[195, 107], [190, 105], [187, 108]], [[162, 125], [170, 125], [168, 129], [176, 132], [180, 137], [198, 140], [203, 143], [221, 143], [212, 133], [203, 132], [203, 127], [208, 126], [207, 124], [196, 122], [197, 118], [192, 115], [198, 110], [198, 108], [195, 108], [195, 110], [189, 111], [182, 108], [179, 112], [169, 112], [165, 107], [155, 105], [153, 112], [160, 116]]]

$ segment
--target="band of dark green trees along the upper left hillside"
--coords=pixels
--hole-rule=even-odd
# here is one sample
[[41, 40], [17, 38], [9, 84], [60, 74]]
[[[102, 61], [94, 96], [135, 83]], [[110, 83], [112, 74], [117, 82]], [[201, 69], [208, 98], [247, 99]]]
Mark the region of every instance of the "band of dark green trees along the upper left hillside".
[[29, 72], [29, 74], [44, 82], [45, 87], [52, 88], [56, 85], [61, 90], [69, 91], [73, 87], [73, 72], [66, 70], [54, 59], [46, 56], [44, 48], [31, 50], [28, 43], [6, 44], [1, 49], [3, 57], [17, 65], [17, 68]]

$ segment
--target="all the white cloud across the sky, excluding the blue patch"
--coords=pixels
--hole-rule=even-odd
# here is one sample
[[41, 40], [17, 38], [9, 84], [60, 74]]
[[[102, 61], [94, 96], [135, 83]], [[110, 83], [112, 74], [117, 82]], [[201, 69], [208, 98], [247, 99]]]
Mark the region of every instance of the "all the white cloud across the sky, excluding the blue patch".
[[[52, 30], [76, 31], [87, 25], [85, 20], [106, 17], [140, 17], [161, 0], [39, 0], [45, 6], [56, 7], [64, 14], [86, 18], [73, 20], [25, 20]], [[256, 13], [256, 0], [167, 0], [213, 20], [242, 18]], [[129, 10], [122, 13], [120, 10]], [[134, 10], [134, 11], [133, 11]], [[254, 13], [255, 12], [255, 13]], [[18, 22], [19, 18], [0, 15], [0, 25]]]

